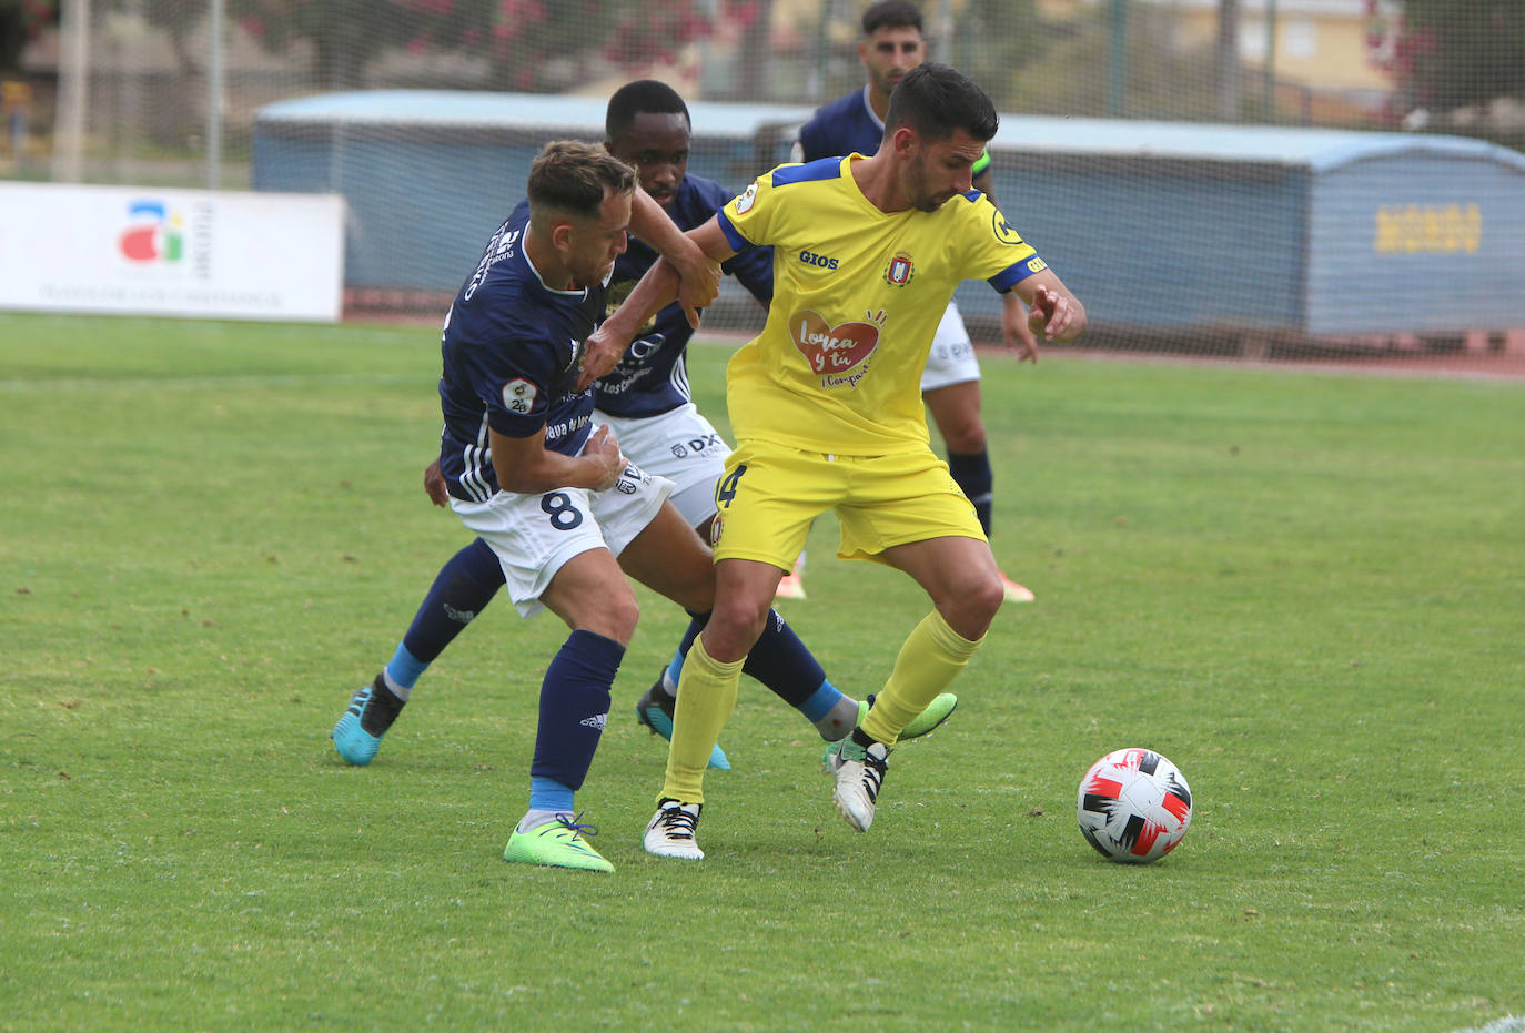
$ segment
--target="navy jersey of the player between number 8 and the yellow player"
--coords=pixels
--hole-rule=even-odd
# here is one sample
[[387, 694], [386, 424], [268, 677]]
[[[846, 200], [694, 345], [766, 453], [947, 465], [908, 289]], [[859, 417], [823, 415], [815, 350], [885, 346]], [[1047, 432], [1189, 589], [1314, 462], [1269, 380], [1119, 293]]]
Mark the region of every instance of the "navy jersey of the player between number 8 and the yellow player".
[[[680, 230], [703, 225], [735, 197], [718, 183], [686, 175], [677, 186], [668, 215]], [[630, 294], [657, 253], [630, 238], [630, 248], [615, 262], [608, 286], [608, 311]], [[764, 306], [773, 299], [773, 248], [749, 248], [720, 267], [735, 276]], [[694, 335], [683, 308], [674, 302], [636, 332], [636, 340], [607, 376], [593, 385], [593, 404], [610, 416], [647, 417], [668, 413], [689, 401], [688, 341]]]

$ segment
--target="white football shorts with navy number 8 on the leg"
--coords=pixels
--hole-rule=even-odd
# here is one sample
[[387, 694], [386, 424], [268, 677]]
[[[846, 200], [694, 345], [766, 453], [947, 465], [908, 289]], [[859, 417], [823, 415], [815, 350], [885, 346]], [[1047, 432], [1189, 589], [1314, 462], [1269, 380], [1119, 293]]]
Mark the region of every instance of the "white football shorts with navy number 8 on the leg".
[[[627, 456], [628, 459], [628, 456]], [[541, 593], [563, 564], [590, 548], [616, 558], [653, 521], [673, 494], [673, 481], [630, 465], [613, 488], [558, 488], [540, 495], [497, 492], [485, 503], [450, 500], [461, 523], [493, 547], [503, 568], [508, 597], [520, 617], [544, 605]]]

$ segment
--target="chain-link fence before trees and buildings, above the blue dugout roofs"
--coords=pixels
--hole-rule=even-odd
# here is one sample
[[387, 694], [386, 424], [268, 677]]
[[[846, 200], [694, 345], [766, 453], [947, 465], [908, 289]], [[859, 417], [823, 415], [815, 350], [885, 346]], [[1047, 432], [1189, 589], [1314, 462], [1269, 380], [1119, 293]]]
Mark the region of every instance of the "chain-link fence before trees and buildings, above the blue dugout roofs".
[[[1409, 0], [1420, 11], [1430, 5]], [[334, 90], [607, 96], [630, 78], [689, 99], [817, 105], [862, 84], [860, 0], [67, 0], [6, 73], [26, 125], [11, 172], [247, 183], [255, 111]], [[1476, 14], [1469, 14], [1475, 8]], [[1520, 30], [1520, 5], [1447, 6], [1469, 62], [1397, 0], [926, 0], [933, 58], [1002, 111], [1525, 134], [1520, 67], [1467, 32]], [[1525, 50], [1525, 40], [1516, 40]], [[1501, 47], [1493, 47], [1499, 50]], [[1435, 64], [1434, 61], [1430, 64]], [[1426, 66], [1427, 67], [1427, 66]], [[1496, 82], [1484, 81], [1491, 76]], [[1511, 105], [1511, 90], [1517, 91]], [[21, 93], [24, 91], [24, 99]], [[1430, 110], [1426, 98], [1450, 108]], [[70, 168], [70, 163], [72, 168]], [[20, 169], [17, 166], [21, 166]]]

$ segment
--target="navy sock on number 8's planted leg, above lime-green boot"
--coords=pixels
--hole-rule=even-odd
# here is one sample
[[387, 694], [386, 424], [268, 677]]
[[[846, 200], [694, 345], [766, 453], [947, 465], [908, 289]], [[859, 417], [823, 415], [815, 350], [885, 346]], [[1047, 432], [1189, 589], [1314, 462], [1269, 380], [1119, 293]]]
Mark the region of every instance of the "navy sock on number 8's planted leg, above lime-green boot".
[[583, 788], [608, 719], [608, 687], [624, 657], [624, 646], [592, 631], [567, 637], [540, 684], [532, 779], [554, 779], [573, 791]]

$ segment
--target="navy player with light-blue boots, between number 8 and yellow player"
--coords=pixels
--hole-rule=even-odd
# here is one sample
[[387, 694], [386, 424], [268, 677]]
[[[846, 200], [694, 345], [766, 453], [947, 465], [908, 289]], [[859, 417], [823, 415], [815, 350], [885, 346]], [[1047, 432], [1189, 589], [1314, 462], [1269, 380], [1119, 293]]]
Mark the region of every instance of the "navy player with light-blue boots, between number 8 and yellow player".
[[[666, 210], [680, 229], [708, 221], [730, 198], [718, 184], [688, 175], [689, 114], [683, 99], [656, 81], [631, 82], [610, 99], [605, 148], [633, 165], [642, 190]], [[631, 238], [615, 261], [607, 306], [612, 309], [656, 262], [657, 251]], [[756, 248], [723, 270], [735, 276], [764, 305], [772, 299], [772, 251]], [[708, 536], [715, 513], [714, 485], [729, 448], [689, 399], [686, 346], [694, 332], [680, 305], [659, 311], [627, 349], [619, 364], [593, 385], [593, 419], [608, 427], [625, 456], [640, 469], [673, 481], [671, 504], [683, 520]], [[448, 503], [439, 466], [425, 474], [425, 486], [441, 506]], [[349, 763], [366, 765], [375, 757], [381, 736], [396, 719], [413, 686], [433, 660], [494, 597], [505, 574], [493, 548], [477, 539], [453, 556], [435, 579], [396, 652], [372, 684], [361, 687], [334, 727], [332, 739]], [[673, 696], [688, 643], [708, 614], [694, 620], [673, 663], [642, 696], [637, 718], [671, 736]], [[860, 718], [865, 702], [843, 696], [820, 670], [793, 631], [776, 614], [766, 641], [747, 673], [762, 681], [796, 707], [834, 742]], [[935, 699], [906, 737], [924, 734], [952, 713], [956, 698]], [[712, 766], [729, 766], [714, 747]]]

